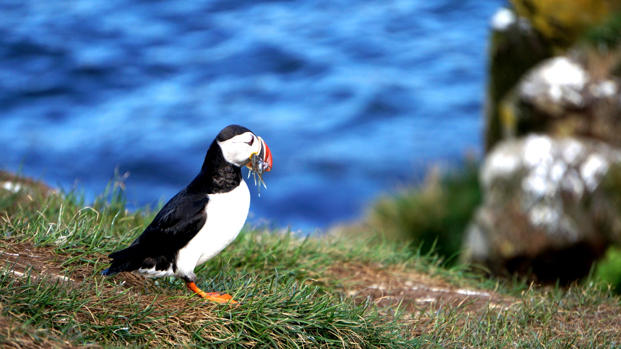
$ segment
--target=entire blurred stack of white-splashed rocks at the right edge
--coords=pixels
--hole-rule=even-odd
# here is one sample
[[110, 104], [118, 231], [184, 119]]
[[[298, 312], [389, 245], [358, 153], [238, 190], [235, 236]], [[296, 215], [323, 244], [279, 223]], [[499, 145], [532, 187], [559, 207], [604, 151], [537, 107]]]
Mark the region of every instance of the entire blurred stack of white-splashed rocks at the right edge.
[[621, 240], [621, 2], [512, 4], [492, 19], [483, 204], [462, 257], [567, 282]]

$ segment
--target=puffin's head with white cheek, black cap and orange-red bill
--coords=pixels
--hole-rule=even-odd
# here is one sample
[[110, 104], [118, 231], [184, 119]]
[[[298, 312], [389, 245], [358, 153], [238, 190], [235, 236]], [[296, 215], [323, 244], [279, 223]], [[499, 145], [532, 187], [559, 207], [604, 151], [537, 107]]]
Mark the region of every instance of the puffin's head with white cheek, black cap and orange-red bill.
[[259, 156], [268, 166], [265, 171], [271, 171], [272, 159], [268, 145], [263, 139], [240, 125], [228, 125], [215, 137], [222, 150], [224, 159], [233, 165], [248, 166], [252, 169], [250, 159], [253, 154]]

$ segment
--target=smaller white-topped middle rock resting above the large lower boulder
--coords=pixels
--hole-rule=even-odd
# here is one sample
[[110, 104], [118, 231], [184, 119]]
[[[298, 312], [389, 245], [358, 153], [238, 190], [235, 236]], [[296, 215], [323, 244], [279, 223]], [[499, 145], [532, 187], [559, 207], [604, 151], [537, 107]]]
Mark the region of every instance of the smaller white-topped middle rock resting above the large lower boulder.
[[603, 65], [612, 66], [604, 58], [561, 56], [530, 70], [514, 93], [501, 101], [502, 136], [540, 132], [557, 137], [589, 137], [620, 147], [619, 78], [589, 69], [589, 65], [600, 70]]

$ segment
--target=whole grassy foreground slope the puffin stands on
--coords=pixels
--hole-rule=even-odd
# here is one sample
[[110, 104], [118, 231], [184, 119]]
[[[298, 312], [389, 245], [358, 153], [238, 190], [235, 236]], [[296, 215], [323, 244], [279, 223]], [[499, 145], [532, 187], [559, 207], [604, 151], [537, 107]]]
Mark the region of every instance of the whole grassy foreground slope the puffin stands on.
[[[247, 227], [197, 270], [199, 286], [240, 306], [205, 302], [175, 279], [99, 276], [153, 213], [125, 211], [113, 188], [88, 206], [75, 193], [0, 189], [0, 250], [20, 254], [1, 258], [0, 347], [621, 348], [621, 301], [601, 284], [486, 279], [377, 239]], [[407, 298], [425, 287], [443, 293]]]

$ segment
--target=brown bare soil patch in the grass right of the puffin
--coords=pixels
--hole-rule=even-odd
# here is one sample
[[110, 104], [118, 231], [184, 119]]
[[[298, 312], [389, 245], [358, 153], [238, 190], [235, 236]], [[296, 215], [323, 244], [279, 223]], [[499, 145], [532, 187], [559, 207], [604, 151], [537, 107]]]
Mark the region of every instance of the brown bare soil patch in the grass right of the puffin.
[[368, 299], [381, 308], [404, 309], [414, 313], [428, 307], [459, 307], [478, 312], [508, 309], [514, 299], [491, 291], [456, 288], [425, 274], [373, 265], [332, 266], [329, 273], [340, 280], [343, 292], [356, 299]]

